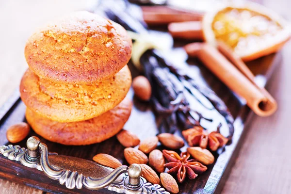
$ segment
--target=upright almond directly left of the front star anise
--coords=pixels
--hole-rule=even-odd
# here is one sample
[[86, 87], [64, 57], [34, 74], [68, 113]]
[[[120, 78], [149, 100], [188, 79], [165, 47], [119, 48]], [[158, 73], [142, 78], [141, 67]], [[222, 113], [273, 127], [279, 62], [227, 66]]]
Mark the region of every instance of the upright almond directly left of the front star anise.
[[165, 159], [162, 155], [162, 152], [158, 149], [154, 149], [149, 153], [148, 163], [153, 167], [157, 172], [162, 173], [165, 171]]

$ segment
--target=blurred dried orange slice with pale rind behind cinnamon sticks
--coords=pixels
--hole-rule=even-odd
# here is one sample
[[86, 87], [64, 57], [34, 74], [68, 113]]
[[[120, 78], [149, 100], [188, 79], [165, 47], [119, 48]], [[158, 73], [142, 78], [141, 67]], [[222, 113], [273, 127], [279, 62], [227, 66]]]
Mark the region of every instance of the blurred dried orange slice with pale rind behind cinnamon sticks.
[[251, 61], [282, 48], [291, 35], [289, 23], [257, 3], [227, 5], [207, 12], [203, 36], [215, 45], [223, 41], [243, 61]]

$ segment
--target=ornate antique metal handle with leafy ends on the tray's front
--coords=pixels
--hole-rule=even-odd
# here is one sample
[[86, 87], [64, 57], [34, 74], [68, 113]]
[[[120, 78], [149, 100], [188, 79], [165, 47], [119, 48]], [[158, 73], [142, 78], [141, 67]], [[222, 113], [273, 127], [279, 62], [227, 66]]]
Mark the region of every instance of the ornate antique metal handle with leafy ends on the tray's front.
[[169, 194], [160, 185], [146, 182], [141, 177], [142, 169], [138, 164], [120, 166], [113, 170], [80, 158], [49, 153], [48, 146], [37, 137], [30, 137], [26, 145], [28, 149], [12, 145], [0, 146], [0, 153], [10, 160], [20, 161], [27, 167], [43, 171], [46, 176], [59, 180], [68, 189], [107, 188], [125, 194]]

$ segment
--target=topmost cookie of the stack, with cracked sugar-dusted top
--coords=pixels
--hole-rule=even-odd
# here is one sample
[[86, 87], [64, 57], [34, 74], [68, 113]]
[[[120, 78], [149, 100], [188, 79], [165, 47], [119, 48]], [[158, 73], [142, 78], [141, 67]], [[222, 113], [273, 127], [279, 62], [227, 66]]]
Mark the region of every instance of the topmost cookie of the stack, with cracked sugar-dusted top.
[[39, 77], [89, 85], [129, 62], [131, 39], [119, 24], [87, 11], [61, 17], [28, 39], [25, 58]]

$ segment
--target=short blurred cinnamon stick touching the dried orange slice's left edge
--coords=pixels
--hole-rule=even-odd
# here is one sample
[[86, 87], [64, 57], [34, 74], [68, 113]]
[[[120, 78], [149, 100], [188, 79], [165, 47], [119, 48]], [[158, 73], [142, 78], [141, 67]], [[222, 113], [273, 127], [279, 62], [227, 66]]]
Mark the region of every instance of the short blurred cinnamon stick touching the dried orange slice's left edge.
[[203, 40], [202, 24], [200, 21], [173, 22], [168, 25], [168, 31], [173, 38]]

